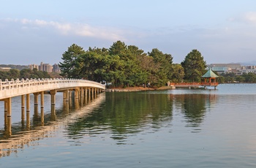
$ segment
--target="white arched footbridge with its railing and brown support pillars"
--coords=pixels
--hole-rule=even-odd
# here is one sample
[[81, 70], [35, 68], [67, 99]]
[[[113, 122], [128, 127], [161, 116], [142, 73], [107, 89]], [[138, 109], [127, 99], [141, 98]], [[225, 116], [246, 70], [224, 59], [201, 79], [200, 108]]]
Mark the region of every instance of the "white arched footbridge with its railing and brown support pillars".
[[[44, 123], [44, 95], [50, 94], [51, 113], [55, 114], [56, 93], [63, 92], [63, 104], [68, 108], [69, 102], [75, 99], [75, 104], [83, 103], [85, 99], [94, 97], [105, 91], [105, 85], [90, 80], [78, 79], [27, 79], [0, 80], [0, 101], [4, 102], [4, 125], [11, 130], [12, 97], [20, 96], [21, 121], [25, 121], [25, 107], [27, 124], [29, 125], [30, 94], [34, 94], [34, 111], [41, 107], [42, 123]], [[40, 95], [40, 99], [38, 96]], [[26, 96], [26, 99], [25, 99]], [[26, 100], [26, 101], [25, 101]], [[40, 103], [39, 101], [40, 100]], [[11, 134], [11, 131], [10, 131]]]

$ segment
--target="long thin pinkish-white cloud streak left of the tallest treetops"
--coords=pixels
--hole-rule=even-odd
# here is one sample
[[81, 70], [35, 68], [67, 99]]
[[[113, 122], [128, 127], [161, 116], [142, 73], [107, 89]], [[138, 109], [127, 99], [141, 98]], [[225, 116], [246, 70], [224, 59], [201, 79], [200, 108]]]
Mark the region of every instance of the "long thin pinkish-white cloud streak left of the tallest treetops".
[[111, 41], [125, 40], [123, 31], [116, 28], [105, 28], [89, 26], [84, 23], [59, 23], [46, 20], [29, 20], [29, 19], [4, 19], [6, 22], [20, 23], [22, 28], [53, 28], [62, 35], [75, 35], [79, 37], [95, 37], [98, 39], [108, 39]]

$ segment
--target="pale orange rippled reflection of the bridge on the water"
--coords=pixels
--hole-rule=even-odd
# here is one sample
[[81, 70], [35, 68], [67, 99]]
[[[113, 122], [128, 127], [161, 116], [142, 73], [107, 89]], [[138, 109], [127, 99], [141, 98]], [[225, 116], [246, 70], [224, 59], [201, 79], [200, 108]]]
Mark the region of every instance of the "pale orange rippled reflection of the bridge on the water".
[[50, 113], [44, 115], [44, 112], [42, 113], [41, 111], [40, 115], [37, 111], [38, 107], [35, 106], [34, 120], [40, 118], [39, 120], [41, 121], [33, 123], [33, 129], [31, 129], [31, 118], [28, 115], [26, 116], [26, 121], [16, 123], [15, 126], [8, 122], [4, 126], [4, 130], [0, 129], [0, 135], [2, 134], [0, 136], [0, 158], [10, 156], [12, 153], [18, 153], [18, 150], [26, 146], [39, 145], [39, 140], [52, 136], [51, 134], [54, 134], [56, 129], [75, 122], [76, 118], [88, 115], [94, 108], [99, 107], [102, 102], [105, 102], [105, 93], [93, 94], [76, 101], [75, 93], [73, 92], [69, 97], [69, 102], [64, 102], [61, 110], [57, 112], [51, 108]]

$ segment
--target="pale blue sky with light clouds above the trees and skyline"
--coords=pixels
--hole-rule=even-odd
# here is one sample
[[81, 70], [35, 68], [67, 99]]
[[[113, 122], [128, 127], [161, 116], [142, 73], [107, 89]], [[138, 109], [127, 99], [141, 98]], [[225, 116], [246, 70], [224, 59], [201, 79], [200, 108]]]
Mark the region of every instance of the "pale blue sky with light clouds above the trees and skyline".
[[0, 0], [0, 64], [59, 64], [72, 44], [118, 40], [176, 64], [194, 49], [207, 64], [256, 61], [256, 1]]

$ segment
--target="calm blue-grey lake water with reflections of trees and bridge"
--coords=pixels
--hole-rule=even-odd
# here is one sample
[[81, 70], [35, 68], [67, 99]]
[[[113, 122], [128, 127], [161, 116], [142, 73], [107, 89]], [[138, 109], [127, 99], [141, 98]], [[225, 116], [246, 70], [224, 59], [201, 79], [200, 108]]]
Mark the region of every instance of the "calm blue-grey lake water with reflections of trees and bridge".
[[43, 126], [12, 99], [11, 137], [0, 102], [0, 167], [256, 167], [255, 84], [101, 93], [69, 110], [56, 97]]

